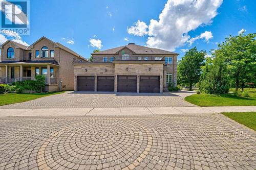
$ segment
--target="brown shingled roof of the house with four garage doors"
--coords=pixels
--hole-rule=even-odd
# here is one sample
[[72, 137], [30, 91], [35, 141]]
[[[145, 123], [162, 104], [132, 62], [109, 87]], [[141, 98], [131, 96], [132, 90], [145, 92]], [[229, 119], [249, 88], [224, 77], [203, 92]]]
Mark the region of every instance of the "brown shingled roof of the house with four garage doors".
[[147, 46], [141, 46], [141, 45], [136, 45], [134, 43], [129, 43], [128, 45], [124, 45], [124, 46], [119, 46], [116, 48], [111, 48], [109, 50], [104, 50], [101, 52], [97, 52], [97, 53], [92, 53], [93, 55], [98, 55], [98, 54], [118, 54], [119, 51], [121, 51], [123, 48], [128, 48], [129, 50], [131, 50], [132, 52], [134, 52], [135, 54], [156, 54], [156, 55], [179, 55], [178, 53], [173, 53], [173, 52], [169, 52], [166, 50], [161, 50], [158, 48], [150, 48]]

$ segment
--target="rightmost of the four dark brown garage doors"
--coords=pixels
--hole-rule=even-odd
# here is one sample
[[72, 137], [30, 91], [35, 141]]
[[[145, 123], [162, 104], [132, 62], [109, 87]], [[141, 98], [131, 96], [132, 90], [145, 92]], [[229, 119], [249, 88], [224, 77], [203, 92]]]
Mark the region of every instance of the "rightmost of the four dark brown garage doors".
[[159, 93], [160, 92], [159, 76], [140, 76], [140, 92]]

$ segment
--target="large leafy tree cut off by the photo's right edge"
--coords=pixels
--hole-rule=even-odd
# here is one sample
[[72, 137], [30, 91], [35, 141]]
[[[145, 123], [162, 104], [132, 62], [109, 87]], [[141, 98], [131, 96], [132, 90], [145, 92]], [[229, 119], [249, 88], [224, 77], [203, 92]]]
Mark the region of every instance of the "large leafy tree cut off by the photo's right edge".
[[239, 87], [244, 90], [245, 84], [255, 82], [256, 76], [256, 41], [255, 35], [239, 34], [229, 36], [225, 42], [218, 44], [215, 51], [225, 59], [228, 73], [238, 91]]

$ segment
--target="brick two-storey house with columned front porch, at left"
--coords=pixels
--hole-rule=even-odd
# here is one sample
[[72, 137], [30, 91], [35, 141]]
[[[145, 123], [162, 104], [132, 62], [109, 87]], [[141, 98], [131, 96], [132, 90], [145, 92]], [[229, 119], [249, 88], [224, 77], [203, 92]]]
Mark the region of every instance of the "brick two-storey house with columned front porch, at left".
[[87, 62], [68, 47], [46, 37], [30, 46], [8, 40], [0, 48], [0, 82], [11, 84], [45, 75], [46, 91], [74, 90], [73, 61]]

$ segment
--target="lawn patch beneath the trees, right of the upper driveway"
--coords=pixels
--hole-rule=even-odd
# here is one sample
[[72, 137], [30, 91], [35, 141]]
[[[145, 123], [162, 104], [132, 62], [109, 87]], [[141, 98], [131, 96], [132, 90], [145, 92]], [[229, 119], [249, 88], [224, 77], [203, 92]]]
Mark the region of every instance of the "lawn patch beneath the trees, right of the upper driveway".
[[198, 106], [256, 106], [256, 98], [243, 98], [233, 94], [193, 94], [185, 101]]

